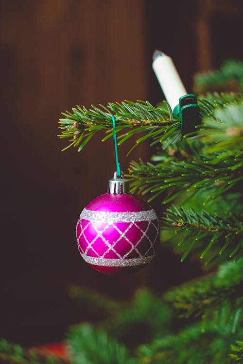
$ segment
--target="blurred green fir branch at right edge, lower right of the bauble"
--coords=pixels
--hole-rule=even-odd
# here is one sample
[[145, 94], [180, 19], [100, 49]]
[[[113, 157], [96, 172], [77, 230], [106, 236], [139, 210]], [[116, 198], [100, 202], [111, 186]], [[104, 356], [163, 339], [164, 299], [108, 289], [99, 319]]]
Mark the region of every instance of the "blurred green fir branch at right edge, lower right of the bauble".
[[234, 333], [242, 320], [243, 260], [227, 262], [214, 277], [184, 284], [165, 299], [173, 302], [180, 317], [202, 317], [204, 330], [208, 323], [221, 327], [228, 323]]

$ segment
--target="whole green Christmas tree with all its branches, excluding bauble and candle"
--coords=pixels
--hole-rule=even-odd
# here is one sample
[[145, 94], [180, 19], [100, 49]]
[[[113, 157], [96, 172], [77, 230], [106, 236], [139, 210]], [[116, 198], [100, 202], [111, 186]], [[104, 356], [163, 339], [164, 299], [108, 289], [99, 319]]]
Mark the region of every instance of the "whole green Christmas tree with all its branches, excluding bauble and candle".
[[[145, 140], [156, 148], [151, 161], [131, 162], [132, 192], [159, 202], [161, 244], [182, 262], [197, 259], [204, 271], [163, 296], [139, 290], [130, 304], [73, 288], [75, 304], [102, 312], [102, 319], [69, 330], [70, 363], [243, 363], [243, 63], [196, 75], [194, 90], [201, 125], [184, 136], [166, 102], [76, 107], [60, 119], [65, 149], [81, 151], [97, 132], [106, 133], [103, 140], [117, 132], [120, 145], [138, 134], [133, 148]], [[66, 362], [5, 340], [0, 358]]]

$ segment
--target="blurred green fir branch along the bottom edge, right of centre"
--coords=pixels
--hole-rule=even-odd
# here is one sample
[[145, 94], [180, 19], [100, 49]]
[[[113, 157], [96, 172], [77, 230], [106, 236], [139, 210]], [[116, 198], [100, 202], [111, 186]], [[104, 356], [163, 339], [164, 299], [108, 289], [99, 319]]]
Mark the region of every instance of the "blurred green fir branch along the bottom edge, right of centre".
[[235, 340], [227, 327], [219, 330], [210, 325], [203, 333], [200, 325], [194, 325], [140, 346], [139, 358], [144, 364], [230, 364], [229, 347]]

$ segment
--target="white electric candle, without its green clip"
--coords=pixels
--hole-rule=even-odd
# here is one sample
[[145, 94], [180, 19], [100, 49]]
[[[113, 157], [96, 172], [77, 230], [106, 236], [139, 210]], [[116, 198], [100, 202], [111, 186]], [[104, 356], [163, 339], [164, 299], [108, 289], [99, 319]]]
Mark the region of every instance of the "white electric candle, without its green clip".
[[178, 75], [171, 57], [156, 50], [153, 55], [153, 69], [162, 88], [164, 96], [172, 111], [179, 104], [179, 98], [187, 95], [187, 91]]

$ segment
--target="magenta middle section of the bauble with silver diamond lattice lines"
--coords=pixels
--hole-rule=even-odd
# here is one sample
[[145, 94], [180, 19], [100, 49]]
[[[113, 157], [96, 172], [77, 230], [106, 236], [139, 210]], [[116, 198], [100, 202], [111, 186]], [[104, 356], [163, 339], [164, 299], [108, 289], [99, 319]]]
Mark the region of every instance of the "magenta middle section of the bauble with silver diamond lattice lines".
[[79, 218], [76, 233], [82, 254], [97, 258], [129, 259], [155, 254], [159, 228], [156, 219], [104, 223]]

